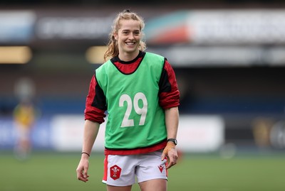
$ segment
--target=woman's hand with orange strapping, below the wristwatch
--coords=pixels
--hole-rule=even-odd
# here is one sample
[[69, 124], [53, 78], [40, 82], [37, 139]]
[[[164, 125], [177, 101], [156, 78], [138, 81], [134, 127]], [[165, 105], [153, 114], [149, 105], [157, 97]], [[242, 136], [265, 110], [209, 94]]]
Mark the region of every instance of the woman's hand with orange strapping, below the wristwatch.
[[166, 169], [171, 168], [172, 165], [176, 165], [178, 154], [177, 154], [175, 143], [172, 143], [171, 141], [167, 142], [165, 149], [162, 151], [161, 160], [165, 160], [165, 157], [167, 157], [169, 160], [169, 163]]

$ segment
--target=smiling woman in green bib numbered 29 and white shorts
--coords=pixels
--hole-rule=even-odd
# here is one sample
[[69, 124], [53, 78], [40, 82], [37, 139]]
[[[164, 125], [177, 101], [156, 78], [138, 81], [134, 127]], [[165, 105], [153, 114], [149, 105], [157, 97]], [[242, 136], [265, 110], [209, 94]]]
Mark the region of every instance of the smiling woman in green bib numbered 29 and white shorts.
[[109, 191], [130, 191], [136, 180], [141, 190], [165, 191], [167, 170], [177, 163], [180, 92], [167, 59], [144, 52], [144, 26], [137, 13], [118, 13], [86, 99], [77, 178], [90, 179], [88, 158], [108, 111], [102, 182]]

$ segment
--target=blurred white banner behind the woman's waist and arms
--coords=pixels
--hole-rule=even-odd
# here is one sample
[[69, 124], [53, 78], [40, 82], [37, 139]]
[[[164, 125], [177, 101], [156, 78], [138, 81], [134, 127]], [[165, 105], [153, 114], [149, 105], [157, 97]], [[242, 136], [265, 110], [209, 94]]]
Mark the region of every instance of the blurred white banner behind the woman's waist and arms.
[[[57, 151], [81, 151], [83, 115], [58, 115], [51, 121], [53, 148]], [[105, 123], [93, 146], [93, 151], [104, 151]], [[217, 151], [224, 143], [224, 120], [220, 116], [180, 116], [177, 148], [182, 152]]]

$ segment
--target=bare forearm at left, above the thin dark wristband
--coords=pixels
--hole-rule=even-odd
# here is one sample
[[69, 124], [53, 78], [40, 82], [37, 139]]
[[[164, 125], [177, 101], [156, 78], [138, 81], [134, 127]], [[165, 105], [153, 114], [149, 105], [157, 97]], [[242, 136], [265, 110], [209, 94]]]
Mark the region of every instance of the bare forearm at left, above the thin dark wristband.
[[86, 120], [84, 124], [84, 133], [83, 133], [83, 146], [82, 152], [86, 152], [90, 155], [93, 144], [97, 137], [99, 126], [97, 122]]

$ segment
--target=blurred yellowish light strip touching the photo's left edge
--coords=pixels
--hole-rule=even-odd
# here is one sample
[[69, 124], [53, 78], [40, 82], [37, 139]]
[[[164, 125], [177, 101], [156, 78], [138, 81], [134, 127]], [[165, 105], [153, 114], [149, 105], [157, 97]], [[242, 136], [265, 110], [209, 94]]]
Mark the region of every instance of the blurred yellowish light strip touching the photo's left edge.
[[28, 46], [0, 47], [0, 64], [26, 64], [31, 57], [31, 48]]

